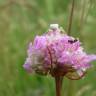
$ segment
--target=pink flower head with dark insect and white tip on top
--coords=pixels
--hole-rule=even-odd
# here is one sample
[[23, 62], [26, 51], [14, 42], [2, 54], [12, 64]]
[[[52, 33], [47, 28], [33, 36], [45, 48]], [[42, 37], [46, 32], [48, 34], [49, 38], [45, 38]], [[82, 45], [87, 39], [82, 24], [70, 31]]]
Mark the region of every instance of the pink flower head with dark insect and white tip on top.
[[24, 68], [28, 72], [70, 79], [83, 77], [91, 67], [90, 62], [96, 60], [96, 55], [87, 55], [83, 51], [78, 39], [62, 33], [58, 24], [51, 24], [46, 34], [36, 36], [27, 53]]

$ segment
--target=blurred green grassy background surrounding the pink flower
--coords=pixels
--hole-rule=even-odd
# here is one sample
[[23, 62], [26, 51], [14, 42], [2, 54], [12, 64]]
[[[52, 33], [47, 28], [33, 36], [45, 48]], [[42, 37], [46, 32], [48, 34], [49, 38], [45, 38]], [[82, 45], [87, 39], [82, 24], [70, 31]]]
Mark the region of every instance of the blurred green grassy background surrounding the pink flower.
[[[66, 31], [72, 0], [0, 0], [0, 96], [55, 96], [51, 76], [30, 75], [22, 68], [28, 42], [50, 23]], [[96, 54], [96, 0], [75, 0], [71, 35], [87, 53]], [[62, 96], [96, 96], [96, 62], [85, 78], [63, 82]]]

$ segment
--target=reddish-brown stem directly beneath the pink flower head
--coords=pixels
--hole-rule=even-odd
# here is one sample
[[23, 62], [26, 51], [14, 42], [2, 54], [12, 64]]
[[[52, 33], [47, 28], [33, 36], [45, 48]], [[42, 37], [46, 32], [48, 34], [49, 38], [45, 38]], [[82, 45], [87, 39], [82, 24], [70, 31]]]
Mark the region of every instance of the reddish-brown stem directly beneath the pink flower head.
[[55, 77], [56, 96], [61, 96], [62, 80], [63, 80], [63, 77], [61, 76]]

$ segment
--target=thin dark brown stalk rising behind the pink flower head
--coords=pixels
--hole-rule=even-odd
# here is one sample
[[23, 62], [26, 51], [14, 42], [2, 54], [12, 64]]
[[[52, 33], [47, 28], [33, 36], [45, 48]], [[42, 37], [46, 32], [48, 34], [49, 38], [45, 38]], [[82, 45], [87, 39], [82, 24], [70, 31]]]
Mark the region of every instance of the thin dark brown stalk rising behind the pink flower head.
[[74, 7], [75, 7], [75, 0], [72, 0], [72, 7], [71, 7], [71, 13], [69, 16], [69, 24], [68, 24], [68, 35], [71, 34], [71, 27], [72, 27], [72, 22], [73, 22], [73, 14], [74, 14]]

